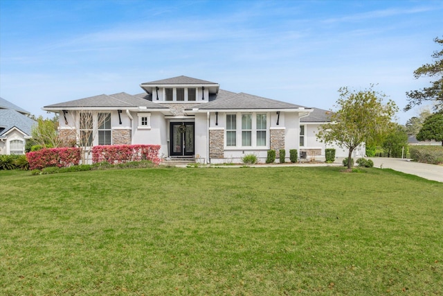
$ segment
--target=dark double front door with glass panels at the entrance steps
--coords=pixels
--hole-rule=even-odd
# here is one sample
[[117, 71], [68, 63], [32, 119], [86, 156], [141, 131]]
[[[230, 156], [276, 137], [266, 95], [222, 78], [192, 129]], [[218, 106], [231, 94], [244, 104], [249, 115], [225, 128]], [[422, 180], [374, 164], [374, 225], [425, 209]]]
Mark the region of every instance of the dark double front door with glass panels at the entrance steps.
[[171, 156], [194, 155], [194, 123], [171, 123]]

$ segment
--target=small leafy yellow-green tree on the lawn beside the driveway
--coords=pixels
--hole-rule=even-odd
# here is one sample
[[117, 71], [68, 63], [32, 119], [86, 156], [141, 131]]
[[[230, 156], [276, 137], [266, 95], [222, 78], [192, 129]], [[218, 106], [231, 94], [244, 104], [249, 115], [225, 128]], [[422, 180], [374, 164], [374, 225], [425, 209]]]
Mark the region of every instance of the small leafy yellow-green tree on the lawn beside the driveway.
[[[348, 157], [363, 142], [378, 143], [392, 128], [391, 120], [398, 110], [392, 100], [384, 103], [386, 95], [372, 89], [363, 91], [338, 89], [337, 111], [331, 115], [331, 123], [321, 125], [317, 138], [325, 143], [337, 143], [349, 150]], [[351, 162], [347, 162], [351, 168]]]

